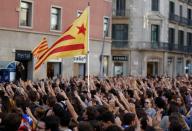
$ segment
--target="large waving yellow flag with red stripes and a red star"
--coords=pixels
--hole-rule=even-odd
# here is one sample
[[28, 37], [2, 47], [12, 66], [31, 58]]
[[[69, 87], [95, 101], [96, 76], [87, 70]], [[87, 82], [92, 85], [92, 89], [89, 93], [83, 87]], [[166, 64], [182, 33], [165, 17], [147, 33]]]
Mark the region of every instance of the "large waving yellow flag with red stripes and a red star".
[[37, 70], [42, 63], [50, 59], [87, 54], [88, 13], [89, 7], [83, 11], [63, 35], [39, 58], [39, 61], [35, 64], [35, 70]]

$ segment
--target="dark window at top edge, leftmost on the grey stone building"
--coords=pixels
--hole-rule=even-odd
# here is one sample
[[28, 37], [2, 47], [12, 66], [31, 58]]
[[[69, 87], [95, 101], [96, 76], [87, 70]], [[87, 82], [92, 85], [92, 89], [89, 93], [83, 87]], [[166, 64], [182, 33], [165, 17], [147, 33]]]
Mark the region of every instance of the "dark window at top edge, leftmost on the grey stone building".
[[125, 16], [125, 0], [117, 0], [116, 1], [116, 15], [117, 16]]

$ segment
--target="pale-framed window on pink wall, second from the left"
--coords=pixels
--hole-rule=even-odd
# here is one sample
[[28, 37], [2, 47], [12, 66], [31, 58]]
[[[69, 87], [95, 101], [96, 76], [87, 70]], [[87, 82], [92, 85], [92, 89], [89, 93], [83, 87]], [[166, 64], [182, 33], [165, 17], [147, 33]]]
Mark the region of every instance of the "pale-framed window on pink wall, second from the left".
[[51, 30], [61, 30], [61, 8], [51, 8]]

